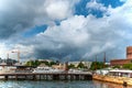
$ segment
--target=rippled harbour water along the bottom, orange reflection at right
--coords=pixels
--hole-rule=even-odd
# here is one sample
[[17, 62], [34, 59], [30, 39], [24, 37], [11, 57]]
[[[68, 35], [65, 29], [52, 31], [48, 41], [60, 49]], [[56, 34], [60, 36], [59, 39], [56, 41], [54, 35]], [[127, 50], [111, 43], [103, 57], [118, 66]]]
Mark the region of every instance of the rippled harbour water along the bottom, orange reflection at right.
[[0, 88], [132, 88], [122, 85], [86, 80], [86, 81], [33, 81], [0, 80]]

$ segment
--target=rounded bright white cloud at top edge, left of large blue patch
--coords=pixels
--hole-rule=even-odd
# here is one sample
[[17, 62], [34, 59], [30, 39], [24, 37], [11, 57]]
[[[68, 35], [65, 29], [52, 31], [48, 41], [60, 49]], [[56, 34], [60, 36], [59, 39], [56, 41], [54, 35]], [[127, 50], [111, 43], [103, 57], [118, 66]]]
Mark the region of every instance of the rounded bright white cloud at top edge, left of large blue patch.
[[52, 19], [65, 19], [72, 15], [69, 2], [68, 1], [53, 1], [46, 7], [47, 15]]

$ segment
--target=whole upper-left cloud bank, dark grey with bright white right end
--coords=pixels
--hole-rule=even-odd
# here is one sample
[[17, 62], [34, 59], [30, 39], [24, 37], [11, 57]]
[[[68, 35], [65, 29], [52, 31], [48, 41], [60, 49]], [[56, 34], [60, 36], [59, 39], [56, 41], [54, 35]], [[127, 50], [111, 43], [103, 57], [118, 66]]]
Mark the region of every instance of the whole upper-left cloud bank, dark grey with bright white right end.
[[66, 19], [73, 15], [76, 2], [78, 0], [0, 0], [0, 38]]

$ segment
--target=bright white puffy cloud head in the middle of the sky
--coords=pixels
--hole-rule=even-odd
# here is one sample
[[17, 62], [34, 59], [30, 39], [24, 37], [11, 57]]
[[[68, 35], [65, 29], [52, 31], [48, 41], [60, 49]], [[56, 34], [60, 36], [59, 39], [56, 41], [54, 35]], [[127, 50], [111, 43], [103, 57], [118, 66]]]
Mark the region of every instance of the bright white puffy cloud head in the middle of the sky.
[[66, 43], [69, 46], [81, 46], [81, 44], [85, 44], [90, 37], [84, 28], [86, 21], [82, 15], [75, 15], [63, 21], [59, 26], [48, 28], [44, 33], [41, 33], [41, 35], [48, 36], [56, 42]]

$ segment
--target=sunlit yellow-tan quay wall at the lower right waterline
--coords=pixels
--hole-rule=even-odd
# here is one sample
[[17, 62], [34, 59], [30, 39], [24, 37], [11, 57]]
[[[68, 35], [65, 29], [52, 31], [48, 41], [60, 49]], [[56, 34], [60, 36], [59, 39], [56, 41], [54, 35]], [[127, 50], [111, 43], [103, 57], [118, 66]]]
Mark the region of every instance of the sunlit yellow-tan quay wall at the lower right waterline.
[[128, 86], [132, 86], [132, 78], [128, 78], [128, 77], [92, 75], [92, 79], [107, 81], [107, 82], [114, 82], [120, 85], [124, 85], [124, 82], [127, 82]]

